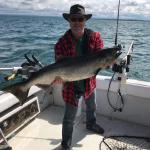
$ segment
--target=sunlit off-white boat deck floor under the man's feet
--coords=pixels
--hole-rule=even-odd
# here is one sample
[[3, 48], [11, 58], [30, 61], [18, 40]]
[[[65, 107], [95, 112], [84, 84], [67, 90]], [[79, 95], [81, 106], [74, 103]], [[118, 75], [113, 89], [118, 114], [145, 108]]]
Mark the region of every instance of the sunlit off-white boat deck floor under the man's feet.
[[[63, 114], [63, 107], [53, 105], [48, 107], [32, 122], [20, 130], [20, 132], [16, 133], [11, 139], [9, 139], [9, 144], [12, 146], [13, 150], [59, 150], [61, 143]], [[128, 135], [150, 137], [150, 128], [145, 126], [116, 120], [114, 118], [107, 118], [101, 115], [97, 115], [97, 122], [105, 129], [105, 134], [103, 136]], [[81, 116], [77, 117], [74, 125], [72, 149], [108, 149], [105, 144], [101, 144], [100, 148], [100, 143], [103, 139], [103, 136], [94, 134], [85, 128], [85, 114], [82, 113]], [[137, 141], [132, 142], [131, 140], [125, 141], [122, 139], [120, 141], [125, 142], [127, 145], [132, 145], [132, 147], [134, 147], [136, 150], [150, 150], [149, 139], [146, 139], [146, 143], [144, 143], [144, 139], [144, 142], [140, 144]], [[113, 148], [113, 150], [114, 149], [115, 148]]]

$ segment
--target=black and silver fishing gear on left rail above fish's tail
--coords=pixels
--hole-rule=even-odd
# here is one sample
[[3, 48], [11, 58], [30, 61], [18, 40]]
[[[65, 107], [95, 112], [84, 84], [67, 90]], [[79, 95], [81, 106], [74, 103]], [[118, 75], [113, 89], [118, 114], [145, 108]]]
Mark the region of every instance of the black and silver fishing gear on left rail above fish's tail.
[[27, 56], [27, 54], [25, 54], [24, 57], [26, 61], [22, 63], [20, 67], [4, 68], [4, 70], [12, 71], [11, 75], [4, 78], [6, 81], [14, 80], [19, 74], [23, 79], [28, 79], [33, 73], [43, 68], [41, 62], [38, 61], [34, 55], [32, 55], [32, 60]]

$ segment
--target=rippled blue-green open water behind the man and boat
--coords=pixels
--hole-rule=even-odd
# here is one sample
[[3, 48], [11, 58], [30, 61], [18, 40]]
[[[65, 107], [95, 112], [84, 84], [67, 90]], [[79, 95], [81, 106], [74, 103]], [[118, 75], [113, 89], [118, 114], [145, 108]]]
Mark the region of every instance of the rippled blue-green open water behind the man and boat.
[[[116, 21], [91, 19], [86, 26], [101, 32], [105, 47], [114, 45]], [[54, 45], [69, 28], [61, 17], [0, 15], [0, 67], [19, 66], [24, 54], [34, 54], [43, 64], [54, 62]], [[128, 77], [150, 81], [150, 22], [119, 21], [118, 43], [129, 48], [134, 41], [134, 52]], [[124, 50], [124, 51], [125, 51]], [[111, 75], [110, 71], [102, 71]], [[5, 83], [0, 73], [0, 84]]]

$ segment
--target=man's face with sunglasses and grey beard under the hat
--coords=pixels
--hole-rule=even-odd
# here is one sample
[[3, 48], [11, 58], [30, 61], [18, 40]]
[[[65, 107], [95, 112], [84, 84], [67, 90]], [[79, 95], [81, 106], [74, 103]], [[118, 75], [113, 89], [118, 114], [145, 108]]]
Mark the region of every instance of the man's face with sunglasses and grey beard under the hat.
[[84, 27], [85, 27], [85, 18], [84, 17], [70, 17], [69, 23], [72, 33], [80, 37], [84, 33]]

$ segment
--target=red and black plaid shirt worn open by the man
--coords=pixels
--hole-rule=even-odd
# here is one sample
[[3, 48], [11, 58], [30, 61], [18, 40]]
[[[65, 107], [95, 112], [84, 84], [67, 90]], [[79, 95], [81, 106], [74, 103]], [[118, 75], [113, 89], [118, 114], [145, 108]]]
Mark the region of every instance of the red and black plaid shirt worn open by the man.
[[[99, 32], [91, 32], [89, 35], [88, 50], [96, 52], [98, 49], [103, 48], [103, 40]], [[76, 44], [73, 41], [71, 30], [68, 30], [55, 45], [55, 60], [61, 57], [77, 56]], [[85, 81], [85, 94], [84, 98], [87, 99], [96, 87], [96, 76], [86, 79]], [[63, 87], [63, 99], [65, 102], [77, 106], [77, 100], [74, 96], [74, 84], [69, 82], [67, 86]]]

